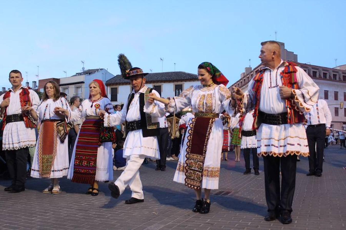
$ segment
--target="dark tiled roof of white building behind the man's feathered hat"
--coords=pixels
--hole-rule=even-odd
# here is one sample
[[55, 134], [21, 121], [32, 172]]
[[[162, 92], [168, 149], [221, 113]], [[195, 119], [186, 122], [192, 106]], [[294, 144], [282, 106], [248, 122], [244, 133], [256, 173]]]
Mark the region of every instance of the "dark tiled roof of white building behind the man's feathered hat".
[[[149, 73], [145, 76], [147, 83], [153, 82], [177, 82], [177, 81], [197, 81], [197, 74], [186, 73], [182, 71], [175, 72], [162, 72], [162, 73]], [[130, 84], [130, 80], [122, 78], [119, 74], [108, 81], [106, 81], [106, 86], [109, 85], [120, 85], [120, 84]]]

